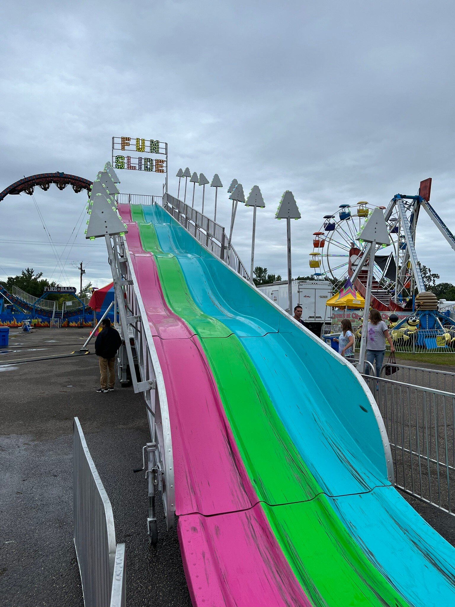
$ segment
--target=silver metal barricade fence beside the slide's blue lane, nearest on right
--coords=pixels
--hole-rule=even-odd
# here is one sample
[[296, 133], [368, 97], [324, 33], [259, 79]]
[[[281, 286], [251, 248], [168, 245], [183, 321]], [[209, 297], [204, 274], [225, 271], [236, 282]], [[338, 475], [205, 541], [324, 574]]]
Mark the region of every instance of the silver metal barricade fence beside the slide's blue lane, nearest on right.
[[455, 515], [455, 394], [363, 378], [385, 423], [396, 486]]

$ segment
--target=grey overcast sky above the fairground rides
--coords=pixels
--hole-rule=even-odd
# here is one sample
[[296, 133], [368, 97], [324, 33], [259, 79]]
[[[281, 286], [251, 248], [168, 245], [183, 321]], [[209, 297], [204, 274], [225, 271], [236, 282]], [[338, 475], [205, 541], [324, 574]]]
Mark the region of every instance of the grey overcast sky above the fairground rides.
[[[323, 215], [359, 200], [386, 205], [426, 177], [453, 229], [454, 17], [453, 2], [438, 0], [5, 2], [0, 190], [39, 172], [92, 180], [112, 136], [126, 135], [167, 141], [175, 195], [177, 169], [217, 172], [224, 225], [232, 178], [245, 192], [260, 186], [255, 260], [283, 276], [286, 223], [274, 212], [286, 189], [302, 212], [295, 276], [309, 273]], [[119, 176], [122, 192], [161, 193], [157, 175]], [[105, 248], [84, 240], [84, 214], [78, 222], [86, 200], [51, 186], [35, 201], [0, 202], [0, 277], [33, 266], [76, 286], [72, 262], [83, 260], [84, 282], [108, 282]], [[206, 200], [211, 209], [213, 189]], [[247, 267], [251, 220], [252, 209], [238, 209], [233, 240]], [[455, 253], [423, 213], [416, 249], [455, 282]]]

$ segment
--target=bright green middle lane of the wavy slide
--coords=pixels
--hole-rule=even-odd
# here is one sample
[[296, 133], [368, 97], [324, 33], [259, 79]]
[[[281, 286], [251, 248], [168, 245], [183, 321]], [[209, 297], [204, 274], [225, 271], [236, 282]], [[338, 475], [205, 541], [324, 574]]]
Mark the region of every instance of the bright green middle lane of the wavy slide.
[[[275, 412], [240, 341], [190, 297], [178, 259], [131, 205], [145, 251], [155, 256], [169, 308], [200, 338], [244, 466], [294, 574], [318, 607], [408, 603], [374, 568], [341, 523]], [[221, 339], [220, 339], [221, 338]]]

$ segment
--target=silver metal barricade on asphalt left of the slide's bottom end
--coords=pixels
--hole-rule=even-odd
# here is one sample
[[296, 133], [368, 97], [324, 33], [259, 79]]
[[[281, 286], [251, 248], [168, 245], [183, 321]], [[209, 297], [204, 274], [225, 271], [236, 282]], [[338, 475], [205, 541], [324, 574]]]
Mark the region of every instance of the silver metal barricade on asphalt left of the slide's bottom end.
[[73, 517], [73, 539], [85, 607], [123, 607], [126, 604], [124, 544], [115, 545], [112, 506], [76, 417], [73, 422]]

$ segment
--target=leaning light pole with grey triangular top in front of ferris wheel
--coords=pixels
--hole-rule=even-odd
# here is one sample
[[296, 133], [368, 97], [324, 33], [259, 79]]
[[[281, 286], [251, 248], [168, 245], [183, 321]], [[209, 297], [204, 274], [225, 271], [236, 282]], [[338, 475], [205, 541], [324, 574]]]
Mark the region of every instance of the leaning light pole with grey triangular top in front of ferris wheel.
[[[389, 232], [385, 223], [384, 214], [381, 209], [374, 209], [366, 222], [365, 227], [359, 234], [359, 240], [363, 242], [369, 242], [369, 255], [368, 255], [368, 276], [366, 278], [365, 288], [365, 305], [363, 307], [363, 323], [362, 323], [362, 337], [360, 337], [360, 353], [359, 353], [359, 366], [357, 369], [359, 373], [365, 372], [365, 353], [366, 353], [366, 340], [368, 337], [368, 314], [369, 314], [369, 300], [371, 299], [371, 285], [373, 281], [374, 271], [374, 254], [376, 253], [376, 245], [389, 245]], [[355, 285], [354, 285], [355, 288]]]

